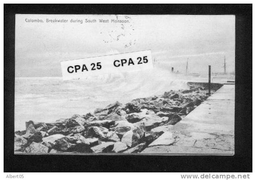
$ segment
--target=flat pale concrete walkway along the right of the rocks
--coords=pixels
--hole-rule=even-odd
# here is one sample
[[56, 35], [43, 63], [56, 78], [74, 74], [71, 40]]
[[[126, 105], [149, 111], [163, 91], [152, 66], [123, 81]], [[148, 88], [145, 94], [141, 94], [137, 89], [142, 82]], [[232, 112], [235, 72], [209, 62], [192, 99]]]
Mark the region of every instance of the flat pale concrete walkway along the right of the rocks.
[[223, 85], [141, 153], [233, 155], [234, 124], [235, 85]]

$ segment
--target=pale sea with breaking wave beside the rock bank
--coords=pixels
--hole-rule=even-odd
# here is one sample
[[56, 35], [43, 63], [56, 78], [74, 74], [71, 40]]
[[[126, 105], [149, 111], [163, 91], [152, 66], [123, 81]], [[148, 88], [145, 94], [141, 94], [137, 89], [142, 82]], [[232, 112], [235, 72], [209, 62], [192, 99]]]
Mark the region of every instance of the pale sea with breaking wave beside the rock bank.
[[15, 78], [15, 130], [24, 130], [25, 122], [53, 122], [86, 114], [119, 101], [162, 94], [188, 88], [187, 80], [170, 70], [152, 70], [88, 77], [63, 81], [61, 77]]

